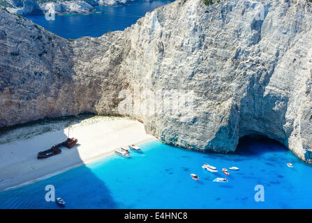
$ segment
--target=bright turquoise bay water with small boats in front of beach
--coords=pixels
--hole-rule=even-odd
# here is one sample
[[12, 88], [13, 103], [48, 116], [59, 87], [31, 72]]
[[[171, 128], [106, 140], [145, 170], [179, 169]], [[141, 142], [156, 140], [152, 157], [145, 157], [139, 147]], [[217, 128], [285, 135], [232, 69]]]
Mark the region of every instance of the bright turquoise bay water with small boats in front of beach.
[[[312, 208], [311, 165], [269, 139], [244, 139], [235, 155], [198, 153], [158, 141], [141, 147], [144, 153], [131, 152], [129, 159], [112, 155], [0, 192], [0, 208], [59, 208], [45, 201], [45, 185], [54, 185], [66, 208]], [[205, 162], [218, 173], [202, 169]], [[213, 182], [231, 166], [240, 170], [230, 171], [228, 183]], [[255, 185], [264, 186], [264, 202], [255, 201]]]

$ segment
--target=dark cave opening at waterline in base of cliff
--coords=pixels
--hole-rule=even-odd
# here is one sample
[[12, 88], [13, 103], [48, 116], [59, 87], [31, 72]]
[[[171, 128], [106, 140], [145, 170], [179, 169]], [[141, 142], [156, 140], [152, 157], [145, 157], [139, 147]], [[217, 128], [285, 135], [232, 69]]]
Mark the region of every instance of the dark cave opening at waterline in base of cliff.
[[249, 134], [239, 139], [235, 153], [238, 155], [261, 155], [262, 153], [285, 151], [288, 149], [275, 139], [261, 134]]

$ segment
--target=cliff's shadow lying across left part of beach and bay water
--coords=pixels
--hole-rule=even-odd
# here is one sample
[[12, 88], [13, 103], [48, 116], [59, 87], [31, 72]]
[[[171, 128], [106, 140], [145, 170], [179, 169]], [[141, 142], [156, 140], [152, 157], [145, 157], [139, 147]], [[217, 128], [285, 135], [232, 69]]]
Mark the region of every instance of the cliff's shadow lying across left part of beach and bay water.
[[[45, 151], [51, 146], [65, 141], [68, 137], [68, 127], [80, 125], [86, 119], [93, 123], [92, 118], [94, 116], [94, 114], [81, 114], [62, 118], [45, 118], [40, 121], [1, 129], [0, 151], [10, 153], [8, 150], [14, 148], [14, 153], [21, 153], [25, 159], [32, 159], [32, 163], [24, 164], [21, 162], [21, 164], [17, 163], [16, 167], [0, 164], [0, 188], [3, 190], [5, 185], [11, 187], [0, 192], [0, 209], [63, 208], [58, 206], [56, 202], [46, 201], [46, 196], [51, 198], [47, 193], [52, 191], [50, 187], [49, 189], [46, 188], [47, 185], [54, 187], [55, 198], [61, 197], [66, 201], [65, 208], [117, 208], [117, 203], [114, 201], [105, 181], [98, 178], [86, 165], [80, 165], [84, 161], [80, 157], [78, 149], [80, 146], [79, 138], [78, 143], [72, 148], [61, 146], [59, 155], [40, 160], [36, 157], [36, 153], [39, 151]], [[75, 137], [73, 132], [69, 132], [69, 137]], [[10, 143], [4, 143], [4, 139], [8, 139]], [[3, 156], [2, 153], [0, 160], [3, 158], [1, 156]], [[17, 155], [18, 158], [19, 155]], [[60, 169], [66, 170], [70, 167], [76, 168], [45, 178], [47, 174], [58, 172]], [[47, 169], [47, 171], [43, 169]], [[36, 176], [34, 179], [37, 180], [29, 181], [25, 178], [24, 182], [28, 182], [27, 185], [15, 187], [14, 178], [23, 177], [23, 174], [27, 175], [31, 172]], [[12, 182], [8, 182], [10, 180]], [[86, 198], [91, 202], [84, 202]]]

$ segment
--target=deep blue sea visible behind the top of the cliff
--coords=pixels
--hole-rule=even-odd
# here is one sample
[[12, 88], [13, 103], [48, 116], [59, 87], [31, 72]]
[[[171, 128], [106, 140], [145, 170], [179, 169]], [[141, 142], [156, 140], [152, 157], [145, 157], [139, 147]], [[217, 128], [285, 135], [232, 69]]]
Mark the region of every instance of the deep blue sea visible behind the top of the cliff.
[[131, 24], [135, 24], [140, 17], [144, 17], [147, 11], [152, 11], [166, 3], [168, 0], [136, 1], [125, 6], [98, 7], [96, 8], [97, 13], [60, 15], [56, 16], [54, 21], [45, 20], [44, 15], [31, 15], [27, 18], [64, 38], [99, 37], [107, 31], [126, 29]]

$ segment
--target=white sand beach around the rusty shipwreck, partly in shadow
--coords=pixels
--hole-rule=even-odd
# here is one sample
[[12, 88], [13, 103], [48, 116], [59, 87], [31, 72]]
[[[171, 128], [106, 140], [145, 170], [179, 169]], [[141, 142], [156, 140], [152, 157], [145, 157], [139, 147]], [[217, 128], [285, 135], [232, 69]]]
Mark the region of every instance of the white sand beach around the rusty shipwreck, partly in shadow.
[[0, 190], [53, 176], [61, 171], [105, 157], [121, 146], [140, 144], [155, 138], [144, 125], [130, 118], [96, 116], [72, 125], [70, 137], [78, 139], [73, 148], [38, 160], [37, 153], [65, 141], [68, 128], [0, 144]]

